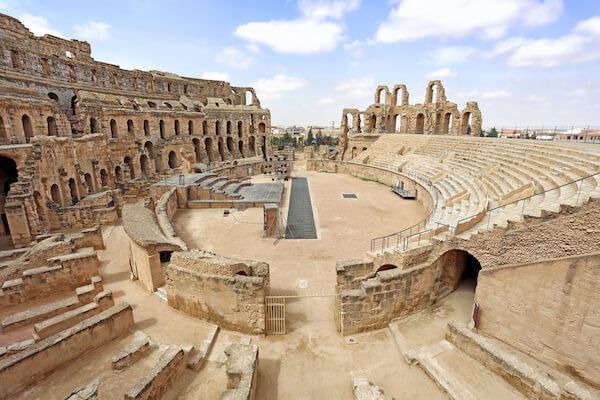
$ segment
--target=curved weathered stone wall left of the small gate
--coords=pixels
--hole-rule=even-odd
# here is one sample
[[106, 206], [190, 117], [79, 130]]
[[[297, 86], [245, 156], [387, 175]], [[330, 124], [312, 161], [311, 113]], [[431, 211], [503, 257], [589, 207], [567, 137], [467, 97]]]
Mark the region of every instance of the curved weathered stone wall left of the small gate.
[[171, 307], [225, 329], [254, 335], [265, 329], [268, 285], [268, 264], [199, 250], [173, 253], [166, 272]]

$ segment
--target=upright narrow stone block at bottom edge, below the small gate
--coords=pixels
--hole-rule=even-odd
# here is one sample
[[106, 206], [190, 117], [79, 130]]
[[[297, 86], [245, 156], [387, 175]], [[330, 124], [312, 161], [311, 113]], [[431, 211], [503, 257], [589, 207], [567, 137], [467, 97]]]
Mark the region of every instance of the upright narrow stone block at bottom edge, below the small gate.
[[227, 354], [227, 390], [220, 400], [254, 400], [258, 377], [258, 346], [255, 344], [232, 344]]

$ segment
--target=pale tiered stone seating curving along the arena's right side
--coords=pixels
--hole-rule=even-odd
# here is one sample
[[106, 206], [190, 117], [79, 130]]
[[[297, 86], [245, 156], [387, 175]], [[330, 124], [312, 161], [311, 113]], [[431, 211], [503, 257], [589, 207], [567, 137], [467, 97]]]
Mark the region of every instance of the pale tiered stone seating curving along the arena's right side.
[[[352, 162], [414, 174], [431, 180], [441, 195], [437, 223], [456, 226], [489, 208], [509, 204], [486, 218], [486, 226], [504, 225], [542, 210], [557, 211], [561, 204], [579, 205], [600, 193], [600, 153], [533, 140], [382, 135]], [[580, 188], [581, 187], [581, 188]], [[579, 196], [578, 196], [579, 194]], [[476, 232], [483, 222], [469, 230]]]

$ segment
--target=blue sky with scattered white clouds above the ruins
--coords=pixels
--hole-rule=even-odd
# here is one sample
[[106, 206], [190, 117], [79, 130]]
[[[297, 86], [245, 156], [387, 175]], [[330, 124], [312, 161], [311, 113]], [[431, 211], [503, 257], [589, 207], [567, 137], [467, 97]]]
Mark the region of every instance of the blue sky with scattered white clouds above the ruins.
[[441, 79], [484, 126], [600, 125], [600, 2], [562, 0], [11, 1], [36, 35], [92, 56], [254, 86], [273, 125], [339, 125], [377, 85], [410, 103]]

